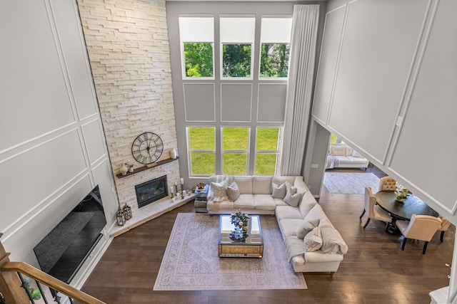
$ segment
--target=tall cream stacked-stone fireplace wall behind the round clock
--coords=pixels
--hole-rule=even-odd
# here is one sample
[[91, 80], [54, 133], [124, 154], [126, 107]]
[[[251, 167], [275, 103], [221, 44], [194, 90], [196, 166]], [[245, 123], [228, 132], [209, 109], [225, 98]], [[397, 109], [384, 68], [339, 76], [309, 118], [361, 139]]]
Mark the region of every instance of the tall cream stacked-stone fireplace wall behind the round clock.
[[178, 161], [116, 177], [124, 163], [144, 166], [131, 154], [143, 132], [164, 142], [158, 161], [169, 159], [177, 147], [166, 2], [77, 2], [119, 204], [135, 211], [136, 185], [163, 176], [173, 185], [180, 178]]

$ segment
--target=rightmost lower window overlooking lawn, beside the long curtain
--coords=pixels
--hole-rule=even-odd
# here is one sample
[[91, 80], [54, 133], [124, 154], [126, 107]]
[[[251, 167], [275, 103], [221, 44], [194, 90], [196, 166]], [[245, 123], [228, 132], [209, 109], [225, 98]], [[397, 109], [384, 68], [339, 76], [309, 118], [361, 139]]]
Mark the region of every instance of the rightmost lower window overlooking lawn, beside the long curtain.
[[257, 128], [254, 174], [275, 175], [281, 147], [280, 132], [278, 127]]

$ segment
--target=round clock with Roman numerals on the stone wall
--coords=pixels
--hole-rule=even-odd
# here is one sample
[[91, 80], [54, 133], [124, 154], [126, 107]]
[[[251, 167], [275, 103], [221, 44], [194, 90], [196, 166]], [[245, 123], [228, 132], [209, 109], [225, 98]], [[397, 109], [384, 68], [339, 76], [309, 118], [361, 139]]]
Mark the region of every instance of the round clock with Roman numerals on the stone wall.
[[140, 134], [131, 145], [131, 154], [141, 164], [151, 164], [161, 157], [164, 143], [156, 133]]

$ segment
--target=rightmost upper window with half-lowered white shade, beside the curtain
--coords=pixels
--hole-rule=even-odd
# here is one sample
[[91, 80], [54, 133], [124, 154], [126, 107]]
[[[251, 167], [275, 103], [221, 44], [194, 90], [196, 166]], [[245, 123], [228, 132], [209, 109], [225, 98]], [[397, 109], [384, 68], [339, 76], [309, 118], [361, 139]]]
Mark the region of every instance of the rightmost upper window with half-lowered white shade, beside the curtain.
[[291, 18], [262, 18], [260, 78], [287, 78]]

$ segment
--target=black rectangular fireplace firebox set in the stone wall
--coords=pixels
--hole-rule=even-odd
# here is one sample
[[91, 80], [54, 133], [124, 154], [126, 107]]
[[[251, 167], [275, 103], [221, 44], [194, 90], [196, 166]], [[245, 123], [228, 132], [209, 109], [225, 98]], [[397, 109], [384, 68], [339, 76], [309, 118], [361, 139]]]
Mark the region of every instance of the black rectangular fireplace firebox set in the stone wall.
[[135, 193], [139, 208], [168, 196], [169, 193], [166, 184], [166, 175], [156, 179], [151, 179], [149, 182], [136, 185]]

